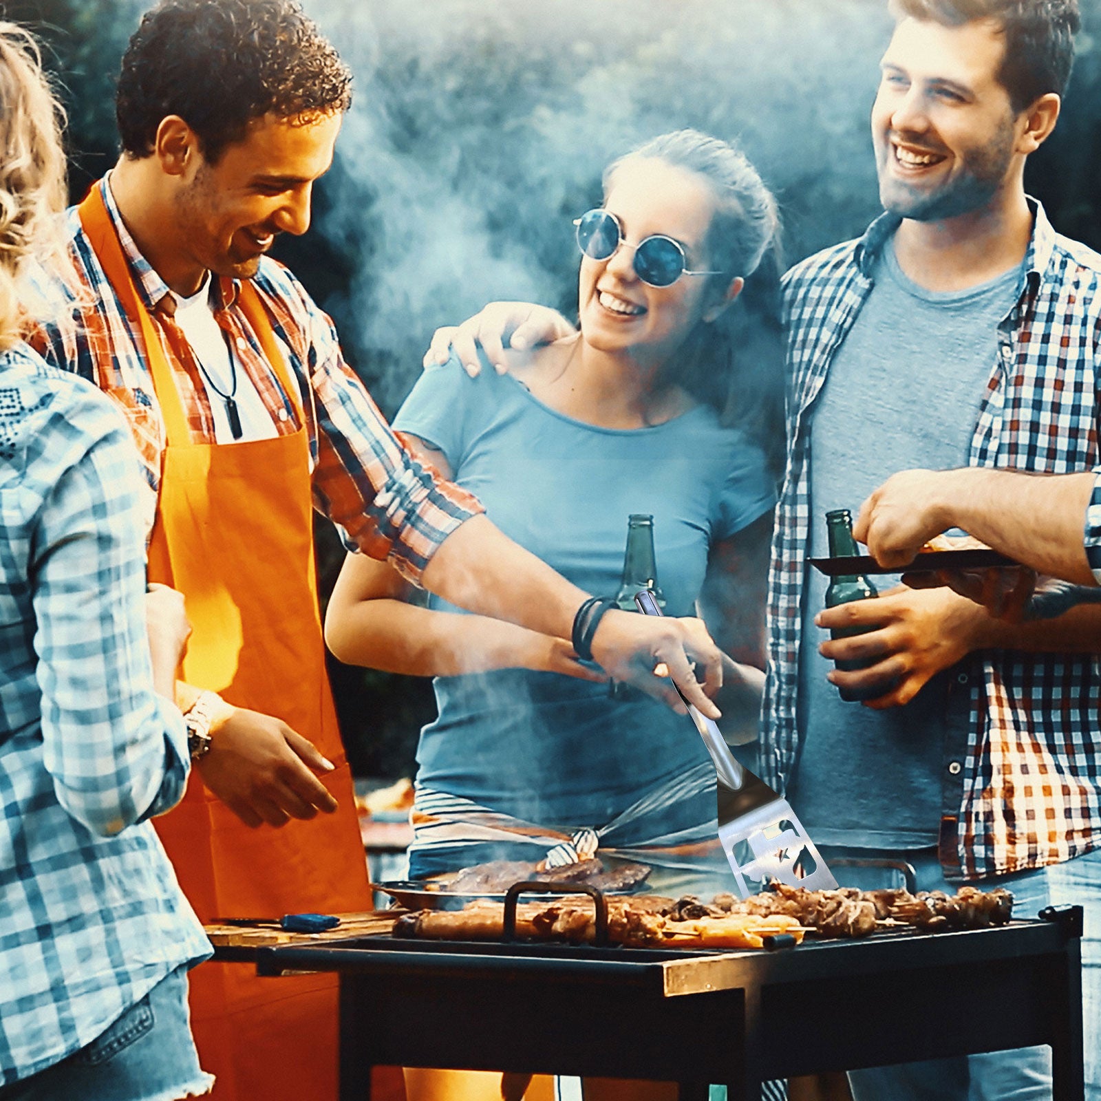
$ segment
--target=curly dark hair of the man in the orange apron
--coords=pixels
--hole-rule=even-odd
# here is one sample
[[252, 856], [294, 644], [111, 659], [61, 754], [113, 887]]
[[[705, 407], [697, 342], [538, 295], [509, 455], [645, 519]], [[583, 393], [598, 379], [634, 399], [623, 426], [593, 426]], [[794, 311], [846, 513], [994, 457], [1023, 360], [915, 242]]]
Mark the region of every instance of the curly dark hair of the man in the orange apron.
[[129, 156], [178, 115], [215, 163], [253, 119], [350, 105], [351, 72], [295, 0], [162, 0], [122, 57], [116, 117]]

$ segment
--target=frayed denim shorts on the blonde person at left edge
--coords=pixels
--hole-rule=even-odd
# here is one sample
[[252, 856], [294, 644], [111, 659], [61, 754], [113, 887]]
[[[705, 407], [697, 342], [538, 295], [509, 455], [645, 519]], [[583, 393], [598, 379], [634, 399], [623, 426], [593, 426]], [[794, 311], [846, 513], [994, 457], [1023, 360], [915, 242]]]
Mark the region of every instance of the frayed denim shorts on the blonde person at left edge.
[[187, 1023], [177, 968], [79, 1051], [0, 1087], [0, 1101], [177, 1101], [209, 1091]]

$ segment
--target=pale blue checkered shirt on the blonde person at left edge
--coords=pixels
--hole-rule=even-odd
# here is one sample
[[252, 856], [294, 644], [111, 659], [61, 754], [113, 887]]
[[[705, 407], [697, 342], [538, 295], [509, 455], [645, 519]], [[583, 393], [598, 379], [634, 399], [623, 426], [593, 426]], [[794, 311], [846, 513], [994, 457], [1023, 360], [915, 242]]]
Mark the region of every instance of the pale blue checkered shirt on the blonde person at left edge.
[[210, 950], [145, 820], [188, 755], [151, 687], [141, 481], [108, 399], [0, 355], [0, 1086]]

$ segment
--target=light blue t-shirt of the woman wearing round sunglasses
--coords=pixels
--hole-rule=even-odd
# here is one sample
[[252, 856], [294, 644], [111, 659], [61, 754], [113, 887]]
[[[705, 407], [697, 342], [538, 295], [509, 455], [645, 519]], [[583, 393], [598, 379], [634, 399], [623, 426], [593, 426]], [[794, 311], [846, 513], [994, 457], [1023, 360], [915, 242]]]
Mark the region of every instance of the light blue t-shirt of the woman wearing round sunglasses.
[[[454, 358], [425, 371], [394, 427], [442, 450], [498, 527], [589, 592], [614, 596], [628, 516], [652, 514], [669, 615], [694, 613], [709, 546], [775, 500], [762, 453], [710, 408], [601, 428], [511, 375], [470, 379]], [[430, 607], [458, 610], [435, 597]], [[439, 718], [422, 731], [418, 781], [528, 821], [603, 825], [707, 760], [685, 716], [650, 698], [612, 699], [603, 684], [500, 669], [437, 677], [435, 688]]]

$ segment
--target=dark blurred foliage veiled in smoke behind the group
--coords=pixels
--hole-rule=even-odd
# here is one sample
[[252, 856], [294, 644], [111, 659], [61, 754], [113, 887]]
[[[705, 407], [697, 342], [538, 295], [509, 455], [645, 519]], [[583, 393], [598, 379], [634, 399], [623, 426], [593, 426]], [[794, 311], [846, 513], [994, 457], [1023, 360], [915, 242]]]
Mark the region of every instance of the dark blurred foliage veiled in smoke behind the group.
[[[35, 26], [66, 89], [73, 193], [115, 156], [113, 80], [140, 0], [6, 4]], [[334, 315], [392, 414], [432, 330], [490, 298], [569, 310], [570, 218], [615, 154], [685, 126], [738, 139], [781, 198], [791, 260], [877, 210], [868, 116], [890, 35], [883, 0], [305, 0], [356, 73], [356, 103], [315, 226], [277, 254]], [[1029, 190], [1101, 246], [1101, 0]], [[341, 549], [319, 531], [323, 578]], [[335, 669], [361, 773], [412, 767], [424, 684]]]

